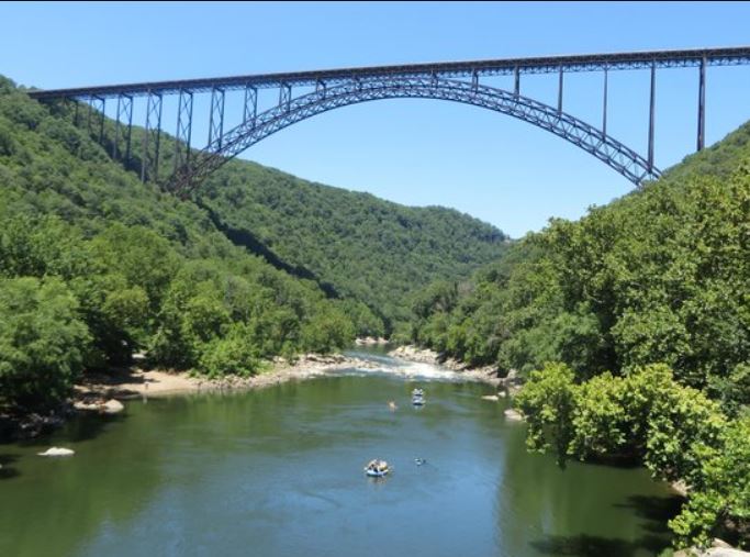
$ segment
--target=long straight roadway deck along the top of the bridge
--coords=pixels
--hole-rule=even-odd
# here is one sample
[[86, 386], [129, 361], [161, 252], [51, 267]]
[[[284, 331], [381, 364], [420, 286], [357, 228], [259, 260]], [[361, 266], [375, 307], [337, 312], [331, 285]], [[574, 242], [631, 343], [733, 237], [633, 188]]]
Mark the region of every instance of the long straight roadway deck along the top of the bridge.
[[597, 71], [693, 67], [702, 60], [708, 66], [732, 66], [750, 63], [750, 46], [728, 48], [693, 48], [682, 51], [650, 51], [613, 54], [584, 54], [573, 56], [544, 56], [533, 58], [506, 58], [493, 60], [441, 62], [432, 64], [406, 64], [399, 66], [372, 66], [283, 74], [260, 74], [177, 81], [153, 81], [74, 89], [31, 91], [35, 99], [114, 97], [119, 94], [144, 96], [149, 91], [161, 94], [180, 90], [193, 92], [213, 88], [224, 90], [255, 87], [258, 89], [284, 86], [315, 86], [317, 82], [337, 85], [351, 79], [377, 79], [382, 77], [437, 76], [444, 78], [469, 76], [506, 76], [513, 74], [550, 74], [558, 71]]

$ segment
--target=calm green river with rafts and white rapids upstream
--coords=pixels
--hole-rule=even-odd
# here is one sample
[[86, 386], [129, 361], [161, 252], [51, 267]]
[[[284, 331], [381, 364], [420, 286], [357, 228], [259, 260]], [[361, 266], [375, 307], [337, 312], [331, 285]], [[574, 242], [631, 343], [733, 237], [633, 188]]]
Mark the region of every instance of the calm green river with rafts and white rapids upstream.
[[[526, 452], [506, 401], [481, 399], [491, 387], [367, 357], [381, 369], [131, 401], [0, 445], [0, 555], [637, 557], [669, 545], [678, 500], [646, 470], [560, 470]], [[36, 456], [49, 446], [76, 455]], [[372, 458], [393, 472], [367, 478]]]

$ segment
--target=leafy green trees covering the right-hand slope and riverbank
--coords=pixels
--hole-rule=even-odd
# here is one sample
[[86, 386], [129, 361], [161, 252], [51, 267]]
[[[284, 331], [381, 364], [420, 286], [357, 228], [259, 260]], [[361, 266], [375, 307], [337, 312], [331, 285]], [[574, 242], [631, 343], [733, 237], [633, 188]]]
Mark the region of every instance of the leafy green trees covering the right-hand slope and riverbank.
[[680, 543], [750, 541], [750, 124], [471, 281], [413, 302], [403, 341], [529, 378], [529, 445], [681, 478]]

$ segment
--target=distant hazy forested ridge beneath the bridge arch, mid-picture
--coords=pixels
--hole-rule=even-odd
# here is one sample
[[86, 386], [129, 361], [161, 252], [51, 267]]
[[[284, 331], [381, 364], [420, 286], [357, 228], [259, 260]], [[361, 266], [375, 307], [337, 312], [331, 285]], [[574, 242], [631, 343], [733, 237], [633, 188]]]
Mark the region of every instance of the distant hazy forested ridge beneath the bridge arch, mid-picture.
[[408, 318], [410, 294], [466, 278], [507, 246], [497, 229], [452, 209], [403, 207], [240, 160], [208, 180], [200, 202], [231, 237], [309, 269], [337, 296], [365, 302], [388, 330]]

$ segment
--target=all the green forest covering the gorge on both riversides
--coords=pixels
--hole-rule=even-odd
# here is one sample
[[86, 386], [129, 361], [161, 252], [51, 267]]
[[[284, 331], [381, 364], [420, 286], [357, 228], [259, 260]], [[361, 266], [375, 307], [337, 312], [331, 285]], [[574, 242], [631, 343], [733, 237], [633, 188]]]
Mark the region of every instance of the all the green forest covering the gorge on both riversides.
[[[526, 376], [531, 448], [684, 480], [681, 544], [750, 542], [750, 124], [507, 252], [502, 233], [455, 211], [242, 161], [180, 201], [92, 135], [71, 107], [0, 79], [0, 409], [54, 408], [85, 370], [137, 350], [254, 374], [394, 327]], [[133, 145], [137, 168], [137, 130]], [[163, 153], [168, 171], [169, 138]]]

